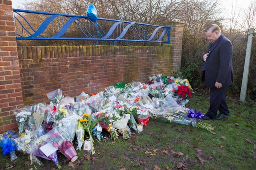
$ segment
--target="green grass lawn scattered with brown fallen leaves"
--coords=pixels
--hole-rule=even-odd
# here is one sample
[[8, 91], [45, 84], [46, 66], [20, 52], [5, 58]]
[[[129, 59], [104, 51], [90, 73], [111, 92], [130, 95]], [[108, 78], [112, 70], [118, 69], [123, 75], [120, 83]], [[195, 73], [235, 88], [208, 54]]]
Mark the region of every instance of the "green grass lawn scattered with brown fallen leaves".
[[[186, 107], [207, 112], [209, 94], [195, 91]], [[78, 159], [71, 163], [59, 154], [62, 169], [92, 170], [254, 170], [256, 167], [256, 101], [239, 102], [228, 96], [230, 117], [203, 120], [214, 127], [214, 133], [191, 125], [166, 123], [150, 119], [142, 134], [128, 140], [94, 142], [95, 155], [77, 151]], [[76, 147], [76, 145], [74, 144]], [[42, 160], [44, 167], [30, 165], [29, 155], [16, 152], [18, 159], [0, 156], [0, 169], [57, 168], [50, 160]]]

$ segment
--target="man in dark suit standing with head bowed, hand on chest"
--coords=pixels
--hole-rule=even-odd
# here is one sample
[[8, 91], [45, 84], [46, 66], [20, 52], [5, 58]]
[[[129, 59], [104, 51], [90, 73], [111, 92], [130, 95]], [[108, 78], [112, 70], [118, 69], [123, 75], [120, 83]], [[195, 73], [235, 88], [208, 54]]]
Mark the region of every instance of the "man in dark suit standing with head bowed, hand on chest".
[[[226, 88], [233, 83], [233, 47], [229, 39], [221, 34], [220, 27], [210, 25], [205, 34], [210, 41], [203, 55], [203, 79], [210, 88], [210, 108], [203, 119], [230, 117], [226, 102]], [[217, 116], [217, 111], [219, 114]]]

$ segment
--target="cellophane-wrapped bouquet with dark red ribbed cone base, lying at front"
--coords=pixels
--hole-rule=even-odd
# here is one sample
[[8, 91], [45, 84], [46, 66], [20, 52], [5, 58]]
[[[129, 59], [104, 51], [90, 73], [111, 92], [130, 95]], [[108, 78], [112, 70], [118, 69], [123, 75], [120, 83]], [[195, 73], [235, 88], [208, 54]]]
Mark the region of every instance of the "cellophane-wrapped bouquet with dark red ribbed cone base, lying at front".
[[70, 140], [68, 133], [61, 127], [54, 127], [43, 138], [44, 141], [51, 143], [52, 146], [58, 148], [68, 160], [74, 162], [78, 155]]

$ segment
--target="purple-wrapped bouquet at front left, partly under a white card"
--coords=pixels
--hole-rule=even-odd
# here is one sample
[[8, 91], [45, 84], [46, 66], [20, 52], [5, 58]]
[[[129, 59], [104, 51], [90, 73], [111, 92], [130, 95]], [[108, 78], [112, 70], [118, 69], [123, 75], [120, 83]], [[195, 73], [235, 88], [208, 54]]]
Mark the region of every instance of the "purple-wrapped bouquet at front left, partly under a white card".
[[31, 146], [30, 153], [35, 155], [35, 156], [38, 156], [40, 158], [52, 160], [54, 162], [54, 164], [57, 165], [58, 168], [61, 168], [61, 166], [58, 162], [57, 151], [54, 151], [52, 154], [46, 156], [46, 154], [44, 154], [44, 152], [40, 149], [40, 147], [43, 147], [44, 145], [47, 144], [41, 138], [43, 138], [43, 137], [36, 138], [36, 140], [34, 141], [34, 143]]

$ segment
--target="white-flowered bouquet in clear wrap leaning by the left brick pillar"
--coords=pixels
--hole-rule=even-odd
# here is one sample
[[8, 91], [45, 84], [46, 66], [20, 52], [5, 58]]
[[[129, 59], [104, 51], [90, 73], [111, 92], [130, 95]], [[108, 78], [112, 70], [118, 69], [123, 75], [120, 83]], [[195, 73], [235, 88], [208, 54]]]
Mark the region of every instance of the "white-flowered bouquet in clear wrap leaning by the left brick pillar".
[[30, 120], [31, 112], [26, 111], [25, 109], [18, 109], [14, 110], [14, 114], [18, 123], [19, 135], [21, 135], [25, 131], [25, 129], [30, 129], [30, 127], [27, 127], [27, 125], [28, 121]]

